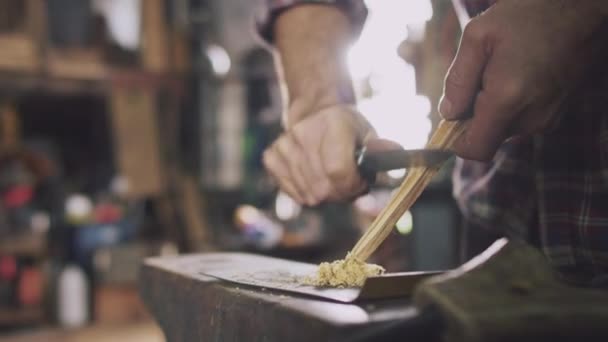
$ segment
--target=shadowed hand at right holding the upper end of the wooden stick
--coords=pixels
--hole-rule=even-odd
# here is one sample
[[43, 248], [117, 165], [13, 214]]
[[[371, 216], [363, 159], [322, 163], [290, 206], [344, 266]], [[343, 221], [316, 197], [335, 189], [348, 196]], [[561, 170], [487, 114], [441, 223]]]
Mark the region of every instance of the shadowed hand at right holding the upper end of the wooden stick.
[[463, 119], [455, 143], [489, 160], [506, 139], [553, 125], [590, 74], [607, 70], [608, 1], [501, 0], [466, 26], [445, 80], [441, 114]]

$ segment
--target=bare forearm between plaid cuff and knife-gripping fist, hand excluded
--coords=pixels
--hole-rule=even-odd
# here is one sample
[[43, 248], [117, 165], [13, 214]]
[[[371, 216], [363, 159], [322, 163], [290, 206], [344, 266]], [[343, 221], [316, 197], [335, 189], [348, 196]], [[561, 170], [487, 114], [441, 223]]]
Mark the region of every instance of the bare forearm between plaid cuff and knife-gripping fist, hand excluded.
[[354, 103], [345, 53], [353, 38], [348, 16], [328, 5], [300, 5], [276, 21], [277, 67], [285, 82], [285, 123], [325, 107]]

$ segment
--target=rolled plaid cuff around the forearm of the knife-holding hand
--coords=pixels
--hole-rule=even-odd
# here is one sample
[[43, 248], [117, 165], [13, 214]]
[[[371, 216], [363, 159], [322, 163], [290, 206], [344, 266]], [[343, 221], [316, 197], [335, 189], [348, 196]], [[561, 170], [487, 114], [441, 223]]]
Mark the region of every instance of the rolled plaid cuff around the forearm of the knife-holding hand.
[[363, 0], [266, 0], [266, 11], [257, 20], [258, 32], [265, 41], [272, 43], [275, 19], [293, 6], [311, 3], [336, 6], [343, 10], [353, 23], [355, 34], [361, 31], [367, 17], [367, 8]]

